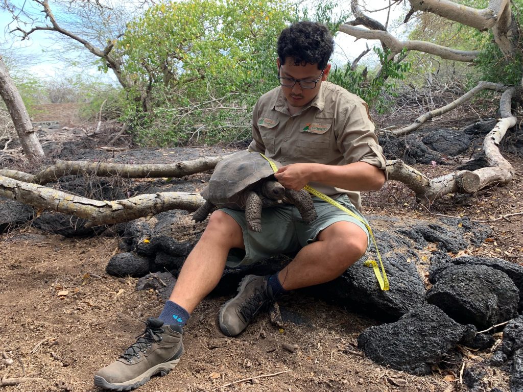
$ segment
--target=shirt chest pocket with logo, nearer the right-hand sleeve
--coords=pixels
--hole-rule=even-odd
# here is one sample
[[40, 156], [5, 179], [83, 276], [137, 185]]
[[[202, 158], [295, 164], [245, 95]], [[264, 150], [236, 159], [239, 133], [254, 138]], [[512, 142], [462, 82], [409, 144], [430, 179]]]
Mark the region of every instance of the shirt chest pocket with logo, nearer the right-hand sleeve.
[[304, 123], [296, 143], [296, 155], [309, 158], [327, 157], [331, 138], [332, 120]]

